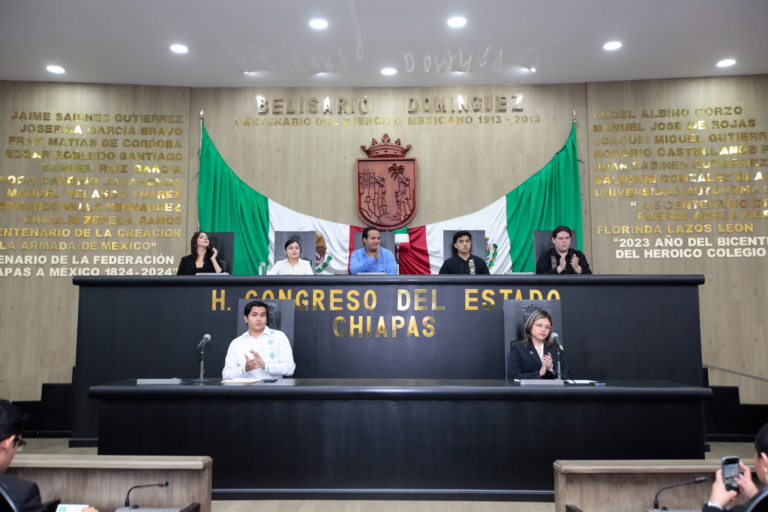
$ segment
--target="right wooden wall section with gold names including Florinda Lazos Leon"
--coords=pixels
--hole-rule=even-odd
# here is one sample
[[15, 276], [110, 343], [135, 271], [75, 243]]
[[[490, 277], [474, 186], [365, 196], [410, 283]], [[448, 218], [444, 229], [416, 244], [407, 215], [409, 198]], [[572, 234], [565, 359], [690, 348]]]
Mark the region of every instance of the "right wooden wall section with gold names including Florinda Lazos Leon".
[[[593, 234], [593, 251], [595, 268], [601, 273], [608, 274], [704, 274], [706, 284], [701, 288], [701, 331], [702, 351], [705, 364], [720, 366], [729, 370], [739, 371], [759, 377], [768, 377], [765, 361], [768, 359], [768, 343], [765, 332], [766, 315], [764, 304], [768, 275], [765, 272], [766, 256], [758, 257], [728, 257], [718, 256], [718, 249], [734, 249], [744, 247], [754, 251], [766, 249], [768, 235], [768, 219], [762, 218], [763, 212], [768, 211], [768, 76], [742, 76], [727, 78], [701, 78], [684, 80], [648, 80], [636, 82], [591, 83], [588, 84], [588, 103], [590, 113], [589, 152], [588, 161], [590, 175], [591, 217]], [[721, 109], [718, 113], [716, 109]], [[688, 109], [688, 115], [666, 118], [643, 118], [644, 110], [653, 111], [658, 115], [661, 109]], [[702, 109], [697, 111], [697, 109]], [[711, 111], [709, 110], [711, 109]], [[601, 117], [603, 112], [631, 112], [634, 119], [594, 119]], [[672, 130], [652, 131], [656, 122], [679, 122]], [[743, 121], [743, 123], [742, 123]], [[715, 124], [715, 122], [717, 124]], [[724, 122], [728, 123], [723, 128]], [[622, 125], [637, 123], [645, 131], [600, 133], [596, 126]], [[689, 123], [693, 125], [689, 126]], [[699, 124], [701, 123], [701, 124]], [[736, 125], [734, 128], [733, 125]], [[631, 127], [630, 127], [631, 128]], [[696, 128], [696, 129], [691, 129]], [[734, 135], [729, 135], [734, 134]], [[742, 135], [744, 134], [744, 135]], [[671, 141], [656, 142], [657, 135], [693, 136], [693, 142], [687, 139], [684, 143]], [[698, 135], [698, 139], [696, 136]], [[645, 144], [621, 144], [622, 136], [647, 136]], [[599, 139], [607, 137], [612, 140], [619, 138], [617, 145], [599, 144]], [[740, 140], [745, 137], [746, 140]], [[726, 141], [718, 139], [725, 138]], [[735, 139], [735, 140], [732, 140]], [[700, 139], [700, 141], [699, 141]], [[752, 139], [752, 140], [750, 140]], [[611, 157], [600, 158], [597, 151], [605, 150], [649, 150], [651, 156], [641, 157]], [[690, 148], [690, 149], [689, 149]], [[725, 149], [723, 149], [725, 148]], [[735, 148], [735, 149], [732, 149]], [[670, 150], [682, 150], [682, 156], [660, 156]], [[689, 156], [690, 151], [690, 156]], [[695, 153], [704, 153], [696, 155]], [[725, 154], [721, 154], [725, 153]], [[621, 153], [620, 153], [621, 155]], [[739, 167], [733, 166], [734, 160]], [[680, 166], [672, 170], [634, 170], [633, 163], [642, 166], [644, 163], [666, 162]], [[716, 162], [716, 163], [713, 163]], [[710, 168], [697, 169], [709, 165]], [[595, 170], [600, 164], [607, 164], [609, 170]], [[610, 170], [616, 164], [619, 170]], [[621, 170], [621, 164], [628, 166]], [[730, 164], [725, 167], [724, 164]], [[715, 168], [717, 165], [717, 168]], [[745, 167], [746, 165], [746, 167]], [[738, 173], [748, 173], [748, 181], [740, 181]], [[656, 176], [656, 185], [639, 184], [607, 184], [598, 185], [594, 178], [612, 177], [621, 180], [622, 177]], [[688, 176], [688, 183], [662, 183], [661, 177], [679, 178]], [[693, 182], [693, 179], [704, 180]], [[727, 179], [727, 181], [711, 181], [707, 179]], [[741, 187], [754, 187], [744, 193]], [[627, 188], [657, 188], [663, 192], [673, 191], [677, 187], [680, 195], [644, 196], [644, 197], [596, 197], [605, 189]], [[699, 188], [701, 187], [701, 188]], [[710, 187], [707, 189], [706, 187]], [[715, 191], [728, 193], [716, 194]], [[676, 209], [674, 201], [734, 201], [725, 205], [714, 203], [716, 208]], [[743, 203], [742, 203], [743, 201]], [[658, 203], [658, 206], [655, 204]], [[697, 204], [697, 203], [691, 203]], [[701, 203], [698, 203], [701, 205]], [[647, 208], [644, 208], [645, 205]], [[706, 206], [711, 206], [712, 203]], [[735, 207], [734, 207], [735, 206]], [[654, 209], [658, 208], [658, 209]], [[638, 219], [638, 214], [662, 215], [660, 220]], [[663, 218], [663, 215], [685, 213], [688, 219]], [[699, 214], [704, 218], [697, 219]], [[712, 215], [726, 216], [725, 219], [706, 218]], [[730, 218], [733, 214], [733, 217]], [[745, 218], [747, 216], [760, 218]], [[634, 230], [636, 227], [650, 226], [659, 228], [661, 233], [650, 234], [614, 234], [613, 229], [626, 227]], [[677, 233], [678, 229], [702, 229], [711, 232]], [[747, 228], [747, 226], [749, 226]], [[741, 229], [751, 232], [727, 232], [729, 229]], [[720, 232], [722, 231], [722, 232]], [[604, 234], [607, 232], [607, 234]], [[750, 236], [754, 245], [727, 248], [718, 247], [718, 239]], [[761, 238], [762, 237], [762, 238]], [[647, 240], [647, 249], [689, 249], [689, 239], [710, 244], [699, 247], [700, 257], [685, 258], [651, 258], [645, 254], [646, 248], [635, 249], [633, 255], [639, 259], [617, 257], [622, 240]], [[682, 247], [663, 247], [666, 241], [677, 239]], [[740, 240], [741, 241], [741, 240]], [[749, 239], [746, 240], [750, 242]], [[656, 244], [662, 244], [656, 247]], [[710, 257], [707, 251], [715, 251]], [[632, 254], [630, 252], [630, 254]], [[671, 254], [671, 253], [670, 253]], [[681, 318], [680, 329], [687, 328], [696, 319]], [[669, 333], [669, 342], [674, 343], [675, 333]], [[663, 355], [662, 355], [663, 356]], [[715, 374], [713, 384], [725, 382], [725, 377]], [[732, 378], [726, 379], [728, 382]], [[741, 378], [743, 384], [748, 378]], [[751, 391], [742, 388], [742, 399], [765, 403], [763, 383], [755, 381], [750, 385]]]

